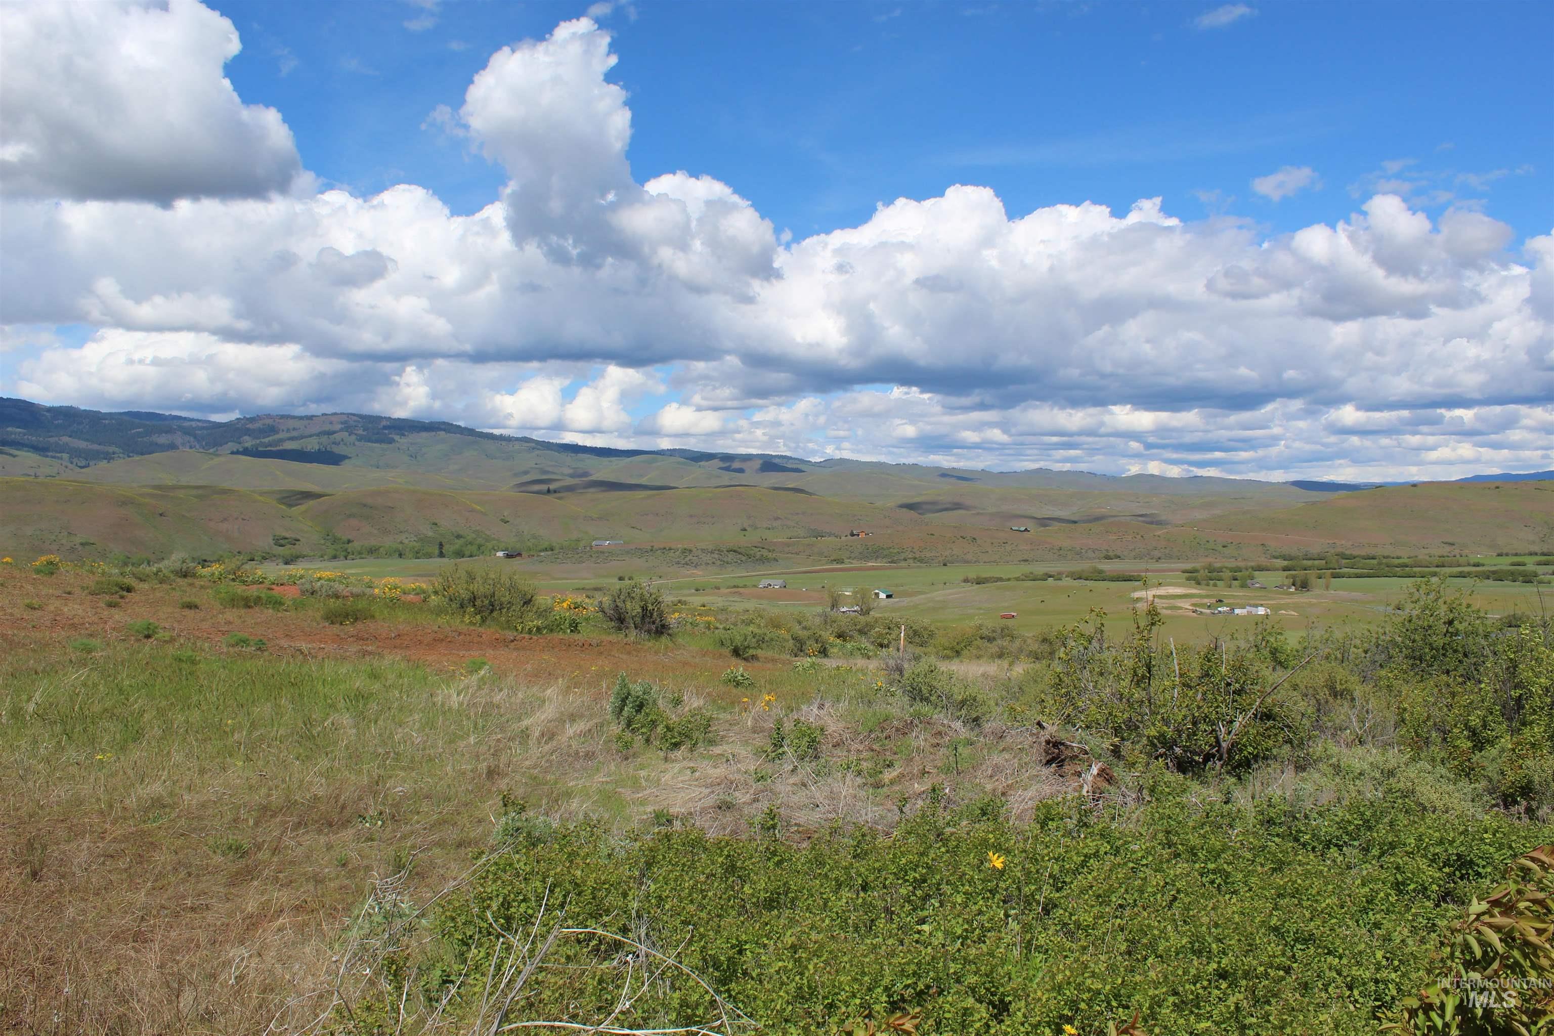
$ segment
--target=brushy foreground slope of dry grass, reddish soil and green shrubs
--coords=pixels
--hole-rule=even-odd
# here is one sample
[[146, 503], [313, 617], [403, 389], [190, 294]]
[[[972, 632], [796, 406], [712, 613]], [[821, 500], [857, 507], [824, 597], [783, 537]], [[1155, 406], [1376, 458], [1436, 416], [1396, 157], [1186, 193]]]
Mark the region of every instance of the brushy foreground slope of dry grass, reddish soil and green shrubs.
[[[1548, 1014], [1534, 983], [1476, 1022], [1462, 1000], [1461, 1030], [1427, 1017], [1459, 972], [1540, 974], [1534, 943], [1451, 926], [1554, 842], [1549, 629], [1441, 582], [1374, 631], [1209, 643], [1153, 607], [1124, 637], [1099, 617], [903, 635], [631, 581], [594, 601], [458, 568], [270, 586], [0, 567], [0, 1024]], [[1469, 918], [1524, 909], [1537, 937], [1540, 882]]]

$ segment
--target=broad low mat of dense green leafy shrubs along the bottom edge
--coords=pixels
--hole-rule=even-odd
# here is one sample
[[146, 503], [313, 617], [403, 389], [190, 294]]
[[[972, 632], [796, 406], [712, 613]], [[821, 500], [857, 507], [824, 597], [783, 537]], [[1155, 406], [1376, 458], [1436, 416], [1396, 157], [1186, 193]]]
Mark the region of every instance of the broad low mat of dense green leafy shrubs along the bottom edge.
[[[1169, 1036], [1375, 1031], [1430, 975], [1455, 896], [1548, 829], [1408, 798], [1327, 806], [1197, 805], [1170, 781], [1122, 822], [1046, 803], [1027, 826], [926, 806], [892, 837], [821, 831], [803, 845], [667, 826], [629, 839], [533, 825], [443, 901], [443, 983], [486, 974], [496, 927], [625, 927], [763, 1031], [834, 1033], [920, 1011], [922, 1036], [1024, 1036], [1106, 1020]], [[1299, 904], [1299, 909], [1291, 909]], [[1214, 918], [1206, 924], [1206, 918]], [[1110, 933], [1110, 935], [1108, 935]], [[718, 1017], [693, 982], [620, 1005], [622, 944], [559, 938], [524, 988], [530, 1017], [668, 1028]], [[434, 994], [446, 985], [434, 982]], [[472, 1017], [480, 983], [451, 1002]]]

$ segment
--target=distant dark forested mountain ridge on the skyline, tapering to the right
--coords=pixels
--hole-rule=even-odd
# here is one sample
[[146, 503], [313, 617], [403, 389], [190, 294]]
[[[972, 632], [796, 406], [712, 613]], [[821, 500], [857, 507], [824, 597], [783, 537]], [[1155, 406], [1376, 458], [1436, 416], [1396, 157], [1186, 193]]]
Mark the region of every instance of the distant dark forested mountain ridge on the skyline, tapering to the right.
[[[306, 468], [399, 472], [387, 481], [438, 488], [502, 489], [535, 478], [591, 478], [660, 486], [799, 486], [819, 495], [872, 503], [901, 503], [954, 488], [1225, 497], [1235, 506], [1253, 506], [1260, 500], [1293, 503], [1308, 499], [1307, 492], [1288, 485], [1235, 478], [1119, 478], [1049, 469], [990, 472], [848, 458], [810, 461], [765, 454], [609, 449], [494, 435], [444, 421], [373, 415], [260, 415], [214, 422], [155, 413], [40, 407], [22, 399], [0, 399], [0, 447], [31, 450], [71, 466], [109, 464], [117, 471], [98, 477], [140, 485], [199, 481], [283, 488], [266, 480], [275, 475], [255, 475], [242, 466], [202, 471], [200, 464], [188, 458], [169, 461], [171, 468], [126, 463], [126, 458], [160, 457], [168, 452], [244, 452], [258, 460], [283, 463], [323, 461], [305, 464]], [[427, 475], [435, 480], [429, 481]], [[255, 478], [260, 481], [255, 483]], [[314, 472], [289, 485], [343, 489], [385, 483], [342, 481], [339, 475]]]

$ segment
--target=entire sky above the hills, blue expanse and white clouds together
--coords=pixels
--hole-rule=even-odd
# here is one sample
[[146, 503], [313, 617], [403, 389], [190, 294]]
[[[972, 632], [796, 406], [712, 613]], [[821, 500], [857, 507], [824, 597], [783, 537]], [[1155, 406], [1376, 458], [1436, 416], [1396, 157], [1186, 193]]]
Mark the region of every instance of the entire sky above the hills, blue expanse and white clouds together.
[[1554, 6], [0, 6], [0, 393], [1420, 478], [1554, 455]]

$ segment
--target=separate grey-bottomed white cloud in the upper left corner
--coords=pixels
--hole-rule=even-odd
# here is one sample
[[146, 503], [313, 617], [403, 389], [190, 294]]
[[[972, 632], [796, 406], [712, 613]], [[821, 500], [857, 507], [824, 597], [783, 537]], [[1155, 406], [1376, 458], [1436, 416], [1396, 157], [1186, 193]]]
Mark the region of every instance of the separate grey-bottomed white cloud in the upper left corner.
[[301, 174], [291, 129], [222, 73], [232, 22], [194, 0], [0, 5], [0, 189], [255, 197]]

